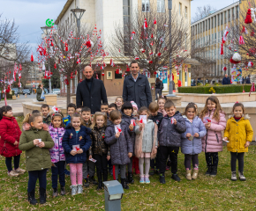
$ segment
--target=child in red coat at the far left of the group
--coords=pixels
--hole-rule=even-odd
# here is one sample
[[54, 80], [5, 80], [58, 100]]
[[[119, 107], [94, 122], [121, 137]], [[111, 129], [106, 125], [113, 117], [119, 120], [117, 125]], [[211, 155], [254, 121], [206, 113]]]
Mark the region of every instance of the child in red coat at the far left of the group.
[[[5, 156], [5, 164], [7, 166], [8, 175], [18, 177], [24, 174], [25, 170], [19, 168], [19, 158], [21, 150], [19, 150], [19, 136], [21, 131], [17, 120], [12, 115], [11, 106], [3, 106], [0, 109], [0, 155]], [[14, 160], [14, 170], [12, 170], [11, 160]]]

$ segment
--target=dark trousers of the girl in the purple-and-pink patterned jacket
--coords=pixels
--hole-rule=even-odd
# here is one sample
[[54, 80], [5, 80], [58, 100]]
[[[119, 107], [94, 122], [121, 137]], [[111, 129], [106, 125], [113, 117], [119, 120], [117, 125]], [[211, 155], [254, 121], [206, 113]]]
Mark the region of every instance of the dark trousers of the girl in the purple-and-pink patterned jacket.
[[55, 163], [56, 167], [51, 166], [51, 182], [52, 188], [57, 188], [57, 176], [59, 175], [60, 186], [65, 186], [65, 161]]

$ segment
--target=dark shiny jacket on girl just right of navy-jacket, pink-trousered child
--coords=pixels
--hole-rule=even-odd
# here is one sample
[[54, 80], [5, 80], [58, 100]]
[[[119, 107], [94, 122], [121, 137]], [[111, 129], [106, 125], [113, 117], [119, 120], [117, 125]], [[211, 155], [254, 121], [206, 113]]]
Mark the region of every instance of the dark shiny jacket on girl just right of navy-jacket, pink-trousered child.
[[105, 130], [106, 127], [96, 127], [92, 129], [91, 133], [91, 139], [92, 139], [92, 146], [89, 149], [89, 155], [93, 156], [93, 154], [101, 155], [107, 154], [107, 156], [110, 156], [110, 149], [106, 142], [104, 142], [105, 139]]

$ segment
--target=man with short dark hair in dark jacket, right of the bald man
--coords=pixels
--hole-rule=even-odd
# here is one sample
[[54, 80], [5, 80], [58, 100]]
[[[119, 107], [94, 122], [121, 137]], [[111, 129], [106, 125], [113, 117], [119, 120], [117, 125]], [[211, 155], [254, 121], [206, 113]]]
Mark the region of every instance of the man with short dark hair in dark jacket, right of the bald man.
[[131, 70], [132, 74], [124, 78], [124, 101], [134, 101], [139, 108], [148, 107], [152, 96], [147, 76], [139, 74], [139, 64], [136, 61], [131, 62]]

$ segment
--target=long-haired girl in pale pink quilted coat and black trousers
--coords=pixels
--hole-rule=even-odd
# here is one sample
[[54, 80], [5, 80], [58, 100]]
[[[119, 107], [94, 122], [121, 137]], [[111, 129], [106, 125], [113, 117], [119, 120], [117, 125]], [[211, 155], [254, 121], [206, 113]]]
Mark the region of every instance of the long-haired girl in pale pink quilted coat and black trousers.
[[207, 128], [207, 135], [202, 138], [202, 150], [207, 161], [206, 175], [215, 177], [219, 161], [218, 152], [222, 151], [222, 130], [226, 127], [225, 113], [218, 98], [215, 96], [207, 98], [200, 118]]

